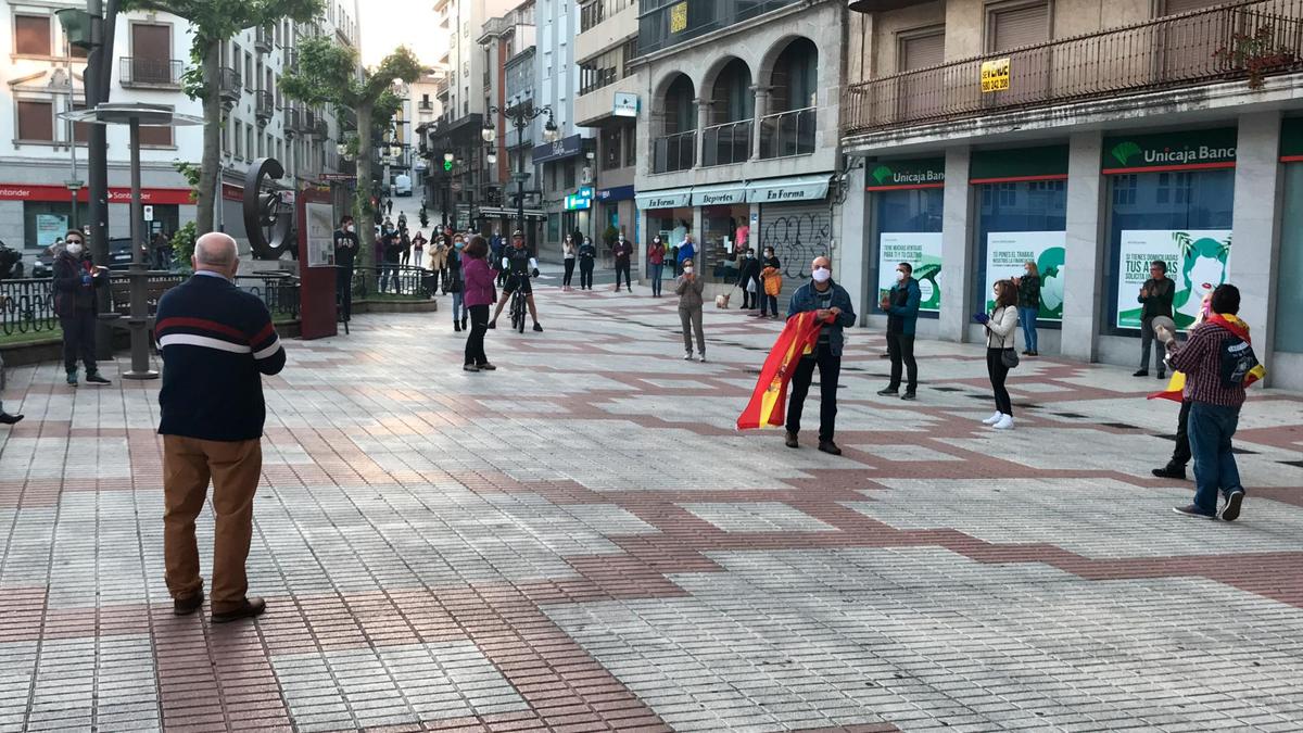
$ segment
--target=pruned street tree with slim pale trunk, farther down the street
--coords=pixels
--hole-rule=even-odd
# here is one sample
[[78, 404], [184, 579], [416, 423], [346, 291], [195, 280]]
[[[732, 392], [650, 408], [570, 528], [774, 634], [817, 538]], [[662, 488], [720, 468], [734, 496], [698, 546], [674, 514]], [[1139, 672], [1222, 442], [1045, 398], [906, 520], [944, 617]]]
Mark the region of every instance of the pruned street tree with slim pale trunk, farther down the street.
[[[280, 82], [285, 97], [319, 107], [335, 104], [357, 113], [357, 137], [348, 149], [357, 157], [357, 196], [353, 217], [358, 223], [370, 222], [373, 166], [378, 140], [403, 100], [394, 91], [395, 82], [412, 83], [425, 68], [405, 46], [390, 53], [375, 68], [358, 64], [357, 51], [326, 38], [310, 38], [298, 44], [298, 67]], [[375, 248], [362, 247], [362, 267], [374, 266]]]

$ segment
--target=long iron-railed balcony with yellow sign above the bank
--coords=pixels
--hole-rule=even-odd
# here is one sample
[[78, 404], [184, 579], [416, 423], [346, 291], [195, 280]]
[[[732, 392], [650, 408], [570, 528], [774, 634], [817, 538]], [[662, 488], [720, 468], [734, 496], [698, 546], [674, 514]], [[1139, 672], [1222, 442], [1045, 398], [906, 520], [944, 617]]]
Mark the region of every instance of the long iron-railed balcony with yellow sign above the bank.
[[[843, 134], [1244, 78], [1248, 64], [1218, 53], [1237, 46], [1259, 50], [1250, 63], [1264, 76], [1303, 68], [1303, 0], [1227, 4], [850, 85]], [[997, 57], [1009, 59], [1009, 87], [982, 93], [982, 63]]]

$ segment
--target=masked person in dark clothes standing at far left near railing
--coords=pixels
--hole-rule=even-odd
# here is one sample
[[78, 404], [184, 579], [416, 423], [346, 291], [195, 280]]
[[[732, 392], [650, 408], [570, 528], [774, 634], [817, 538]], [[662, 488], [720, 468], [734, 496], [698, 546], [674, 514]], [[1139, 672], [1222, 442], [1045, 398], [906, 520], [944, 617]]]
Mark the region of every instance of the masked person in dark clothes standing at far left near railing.
[[95, 265], [86, 252], [86, 237], [79, 230], [65, 235], [64, 249], [55, 257], [55, 313], [64, 330], [64, 369], [68, 383], [77, 383], [77, 360], [86, 366], [86, 381], [107, 385], [95, 364], [95, 314], [99, 303], [95, 288], [108, 284], [108, 267]]

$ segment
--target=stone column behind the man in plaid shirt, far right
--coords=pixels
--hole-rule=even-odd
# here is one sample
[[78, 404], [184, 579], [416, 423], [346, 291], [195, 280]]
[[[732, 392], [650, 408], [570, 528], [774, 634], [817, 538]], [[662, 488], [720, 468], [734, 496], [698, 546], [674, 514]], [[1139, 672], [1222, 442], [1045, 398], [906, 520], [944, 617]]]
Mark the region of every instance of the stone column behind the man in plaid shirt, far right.
[[[1239, 288], [1239, 317], [1253, 335], [1253, 351], [1268, 365], [1272, 340], [1269, 308], [1276, 301], [1273, 267], [1280, 252], [1280, 112], [1240, 115], [1235, 143], [1235, 220], [1226, 280]], [[1293, 327], [1298, 327], [1294, 325]]]

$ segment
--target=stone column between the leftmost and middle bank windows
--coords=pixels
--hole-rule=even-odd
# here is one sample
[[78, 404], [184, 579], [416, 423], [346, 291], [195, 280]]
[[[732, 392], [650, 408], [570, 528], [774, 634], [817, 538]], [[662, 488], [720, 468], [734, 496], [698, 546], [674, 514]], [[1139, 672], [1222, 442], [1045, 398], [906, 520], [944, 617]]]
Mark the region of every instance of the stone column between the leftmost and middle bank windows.
[[968, 279], [972, 275], [972, 205], [968, 196], [968, 147], [946, 150], [946, 189], [941, 219], [941, 314], [937, 335], [964, 342], [968, 333]]

